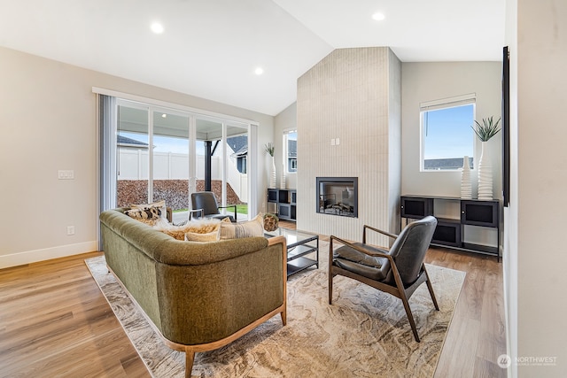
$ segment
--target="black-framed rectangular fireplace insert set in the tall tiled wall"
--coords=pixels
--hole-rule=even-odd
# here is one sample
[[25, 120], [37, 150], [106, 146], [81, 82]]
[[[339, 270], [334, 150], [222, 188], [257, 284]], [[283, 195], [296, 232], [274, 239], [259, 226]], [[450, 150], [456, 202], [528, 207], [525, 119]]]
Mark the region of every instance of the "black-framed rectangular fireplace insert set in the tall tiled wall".
[[317, 177], [317, 212], [358, 218], [358, 177]]

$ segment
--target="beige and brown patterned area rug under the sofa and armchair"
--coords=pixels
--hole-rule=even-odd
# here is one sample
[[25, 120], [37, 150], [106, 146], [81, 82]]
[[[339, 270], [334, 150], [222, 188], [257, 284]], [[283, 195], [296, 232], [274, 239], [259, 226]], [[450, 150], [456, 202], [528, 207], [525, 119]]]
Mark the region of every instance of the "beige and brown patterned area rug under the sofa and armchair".
[[[321, 265], [288, 280], [287, 325], [279, 315], [218, 350], [197, 353], [198, 377], [431, 377], [447, 335], [464, 272], [428, 265], [440, 311], [423, 284], [409, 300], [416, 343], [400, 299], [336, 277], [328, 304], [327, 255]], [[85, 260], [101, 291], [154, 377], [183, 377], [184, 353], [173, 351], [105, 266]]]

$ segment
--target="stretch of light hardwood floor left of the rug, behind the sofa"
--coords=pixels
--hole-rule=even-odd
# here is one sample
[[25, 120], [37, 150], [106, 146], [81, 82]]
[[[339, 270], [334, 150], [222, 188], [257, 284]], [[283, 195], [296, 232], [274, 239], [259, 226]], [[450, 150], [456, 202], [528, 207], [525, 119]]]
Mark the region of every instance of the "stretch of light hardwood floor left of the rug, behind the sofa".
[[0, 377], [149, 377], [89, 253], [0, 270]]

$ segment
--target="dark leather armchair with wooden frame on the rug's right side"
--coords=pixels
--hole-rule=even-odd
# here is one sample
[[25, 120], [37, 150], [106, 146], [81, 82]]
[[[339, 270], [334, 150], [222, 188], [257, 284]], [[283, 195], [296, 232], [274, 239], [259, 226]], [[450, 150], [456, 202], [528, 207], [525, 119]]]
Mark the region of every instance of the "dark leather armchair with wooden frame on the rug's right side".
[[[416, 322], [409, 308], [408, 299], [423, 282], [431, 294], [433, 305], [439, 311], [437, 299], [423, 264], [425, 252], [429, 248], [437, 220], [427, 216], [408, 224], [400, 235], [371, 228], [364, 225], [362, 243], [350, 243], [337, 236], [330, 236], [329, 246], [329, 305], [333, 297], [333, 277], [344, 275], [373, 288], [399, 297], [408, 315], [409, 324], [416, 342], [419, 343]], [[389, 251], [366, 243], [366, 231], [390, 236], [395, 239]], [[333, 252], [333, 241], [343, 246]]]

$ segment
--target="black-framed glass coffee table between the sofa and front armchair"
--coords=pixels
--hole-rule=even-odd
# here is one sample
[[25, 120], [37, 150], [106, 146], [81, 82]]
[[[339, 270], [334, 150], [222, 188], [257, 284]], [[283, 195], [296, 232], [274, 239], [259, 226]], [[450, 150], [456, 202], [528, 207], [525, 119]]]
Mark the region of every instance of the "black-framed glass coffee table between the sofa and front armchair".
[[319, 235], [287, 228], [264, 231], [264, 235], [266, 237], [285, 236], [288, 277], [309, 266], [319, 267]]

